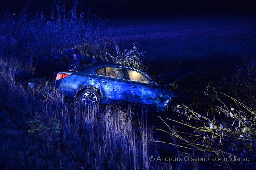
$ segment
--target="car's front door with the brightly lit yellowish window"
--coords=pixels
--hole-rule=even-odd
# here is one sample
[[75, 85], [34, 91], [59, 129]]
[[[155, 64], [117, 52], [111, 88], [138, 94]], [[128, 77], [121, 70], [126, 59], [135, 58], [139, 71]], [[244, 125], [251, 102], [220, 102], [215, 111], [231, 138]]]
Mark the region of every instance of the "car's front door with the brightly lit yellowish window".
[[157, 107], [159, 103], [156, 84], [144, 73], [127, 68], [130, 80], [130, 102], [137, 105]]

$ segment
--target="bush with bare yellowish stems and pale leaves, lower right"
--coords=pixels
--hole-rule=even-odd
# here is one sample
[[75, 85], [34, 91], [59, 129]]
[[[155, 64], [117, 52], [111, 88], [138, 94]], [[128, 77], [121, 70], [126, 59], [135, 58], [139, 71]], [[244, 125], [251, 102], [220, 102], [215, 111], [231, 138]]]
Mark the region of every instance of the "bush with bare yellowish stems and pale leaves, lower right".
[[[210, 157], [210, 162], [215, 166], [249, 169], [256, 167], [254, 157], [256, 149], [254, 100], [256, 67], [254, 60], [245, 61], [237, 67], [237, 72], [232, 76], [229, 84], [227, 84], [228, 81], [220, 83], [222, 87], [232, 87], [227, 90], [229, 95], [218, 93], [211, 83], [206, 87], [206, 89], [212, 87], [211, 96], [218, 101], [214, 102], [218, 106], [209, 112], [199, 114], [188, 106], [178, 105], [174, 108], [177, 113], [174, 117], [180, 116], [182, 120], [160, 117], [169, 128], [168, 135], [178, 140], [177, 143], [170, 142], [169, 144], [188, 150], [190, 154], [195, 151], [200, 155], [199, 157], [206, 157], [206, 160]], [[208, 92], [207, 90], [207, 95]], [[171, 128], [166, 121], [176, 123], [180, 128]], [[158, 130], [163, 131], [163, 129]], [[214, 162], [212, 158], [220, 158], [220, 160], [223, 158], [224, 161]], [[227, 158], [232, 158], [232, 161], [225, 161]]]

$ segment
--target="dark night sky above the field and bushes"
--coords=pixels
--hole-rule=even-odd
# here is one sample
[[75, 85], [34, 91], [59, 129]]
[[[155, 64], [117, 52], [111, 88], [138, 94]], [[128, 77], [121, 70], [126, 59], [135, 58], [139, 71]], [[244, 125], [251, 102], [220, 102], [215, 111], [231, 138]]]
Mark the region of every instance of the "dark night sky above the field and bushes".
[[[29, 2], [29, 12], [43, 10], [50, 13], [52, 0], [1, 0], [1, 9], [11, 7], [17, 14]], [[78, 0], [80, 6], [82, 0]], [[73, 0], [65, 0], [69, 9]], [[17, 6], [18, 5], [18, 6]], [[255, 14], [256, 6], [252, 1], [243, 0], [84, 0], [83, 9], [104, 18], [145, 17], [169, 15], [223, 15]]]

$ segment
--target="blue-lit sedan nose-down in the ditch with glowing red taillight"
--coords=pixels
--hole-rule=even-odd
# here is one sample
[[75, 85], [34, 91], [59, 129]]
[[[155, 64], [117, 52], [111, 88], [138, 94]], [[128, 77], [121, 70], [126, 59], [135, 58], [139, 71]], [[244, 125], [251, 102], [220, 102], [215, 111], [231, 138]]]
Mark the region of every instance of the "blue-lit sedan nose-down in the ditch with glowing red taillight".
[[166, 111], [172, 99], [178, 97], [143, 71], [111, 63], [92, 63], [76, 66], [70, 72], [59, 72], [55, 85], [66, 97], [77, 98], [89, 107], [100, 102]]

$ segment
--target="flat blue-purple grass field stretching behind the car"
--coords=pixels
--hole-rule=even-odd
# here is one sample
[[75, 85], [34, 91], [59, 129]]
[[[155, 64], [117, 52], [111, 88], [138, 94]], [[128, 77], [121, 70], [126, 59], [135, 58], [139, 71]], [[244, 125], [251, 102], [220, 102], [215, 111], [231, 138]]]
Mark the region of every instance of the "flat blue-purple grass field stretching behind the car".
[[144, 19], [116, 21], [112, 34], [120, 42], [139, 42], [146, 63], [194, 61], [255, 54], [253, 18]]

